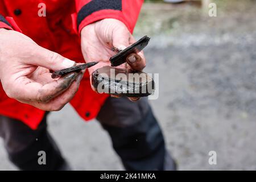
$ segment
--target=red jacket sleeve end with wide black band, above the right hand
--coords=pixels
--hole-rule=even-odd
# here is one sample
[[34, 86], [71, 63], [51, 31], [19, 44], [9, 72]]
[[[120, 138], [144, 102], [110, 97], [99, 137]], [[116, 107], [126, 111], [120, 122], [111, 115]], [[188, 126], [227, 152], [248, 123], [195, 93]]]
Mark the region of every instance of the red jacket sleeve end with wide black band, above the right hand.
[[79, 34], [86, 25], [105, 18], [118, 19], [133, 32], [143, 0], [76, 0]]

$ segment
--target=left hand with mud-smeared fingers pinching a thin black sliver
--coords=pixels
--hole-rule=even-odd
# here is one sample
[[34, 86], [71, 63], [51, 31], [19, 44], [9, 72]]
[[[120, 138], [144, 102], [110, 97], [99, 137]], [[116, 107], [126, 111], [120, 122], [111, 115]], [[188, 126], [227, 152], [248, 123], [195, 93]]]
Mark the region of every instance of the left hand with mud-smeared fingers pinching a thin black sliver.
[[26, 35], [0, 28], [0, 79], [10, 98], [42, 110], [60, 110], [77, 92], [83, 73], [53, 80], [49, 69], [56, 71], [74, 64]]

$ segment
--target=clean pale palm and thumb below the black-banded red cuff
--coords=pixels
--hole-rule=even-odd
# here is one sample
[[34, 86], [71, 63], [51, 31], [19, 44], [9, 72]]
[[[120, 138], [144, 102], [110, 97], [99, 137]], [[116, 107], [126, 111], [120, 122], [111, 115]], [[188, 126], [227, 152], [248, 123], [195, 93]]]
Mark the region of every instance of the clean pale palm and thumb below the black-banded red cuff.
[[[125, 40], [122, 48], [129, 46], [131, 34], [125, 24], [116, 22], [105, 22], [107, 19], [86, 26], [82, 32], [81, 47], [82, 53], [86, 61], [100, 61], [96, 66], [89, 69], [90, 74], [97, 68], [110, 65], [109, 58], [114, 56], [116, 52], [113, 47], [118, 47], [115, 44], [116, 40]], [[121, 38], [118, 38], [120, 36]], [[121, 48], [121, 49], [122, 49]], [[119, 67], [124, 68], [125, 65]]]

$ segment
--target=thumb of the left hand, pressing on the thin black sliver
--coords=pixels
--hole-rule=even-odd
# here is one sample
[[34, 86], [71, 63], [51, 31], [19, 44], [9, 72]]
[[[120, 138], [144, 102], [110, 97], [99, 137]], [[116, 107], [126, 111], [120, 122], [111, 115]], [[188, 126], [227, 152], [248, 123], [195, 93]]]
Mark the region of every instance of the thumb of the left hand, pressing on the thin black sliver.
[[26, 60], [26, 63], [57, 71], [72, 67], [75, 64], [75, 61], [69, 60], [56, 52], [38, 46], [33, 52], [32, 59]]

